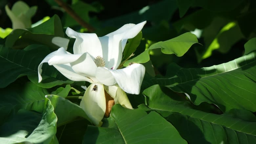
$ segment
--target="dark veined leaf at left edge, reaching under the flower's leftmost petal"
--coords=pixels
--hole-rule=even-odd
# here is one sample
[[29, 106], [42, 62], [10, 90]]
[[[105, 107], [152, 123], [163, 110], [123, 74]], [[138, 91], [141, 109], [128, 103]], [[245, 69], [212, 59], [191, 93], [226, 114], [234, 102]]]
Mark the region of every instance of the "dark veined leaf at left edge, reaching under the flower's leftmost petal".
[[37, 67], [50, 53], [43, 45], [30, 45], [23, 50], [12, 50], [0, 46], [0, 88], [4, 88], [18, 77], [28, 75], [29, 79], [41, 87], [51, 88], [64, 83], [73, 83], [52, 66], [43, 67], [43, 81], [38, 83]]

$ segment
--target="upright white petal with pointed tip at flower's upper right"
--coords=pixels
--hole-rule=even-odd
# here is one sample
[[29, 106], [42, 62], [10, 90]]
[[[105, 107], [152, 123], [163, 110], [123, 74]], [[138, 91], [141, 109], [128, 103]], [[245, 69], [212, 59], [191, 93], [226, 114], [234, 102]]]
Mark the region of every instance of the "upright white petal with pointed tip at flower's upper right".
[[[146, 21], [137, 25], [126, 24], [114, 32], [99, 37], [107, 68], [113, 67], [113, 69], [117, 69], [122, 60], [122, 52], [127, 39], [135, 37], [145, 24]], [[105, 53], [107, 55], [105, 55]]]

